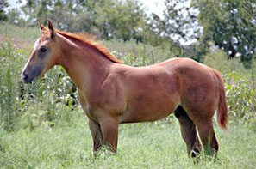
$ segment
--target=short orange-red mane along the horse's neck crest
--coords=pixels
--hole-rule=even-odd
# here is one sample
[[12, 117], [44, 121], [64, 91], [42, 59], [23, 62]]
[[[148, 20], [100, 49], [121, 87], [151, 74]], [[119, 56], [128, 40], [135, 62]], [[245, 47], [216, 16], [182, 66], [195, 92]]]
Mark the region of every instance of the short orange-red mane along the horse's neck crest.
[[100, 51], [104, 57], [107, 57], [111, 62], [113, 63], [123, 63], [121, 60], [118, 60], [116, 57], [114, 57], [107, 47], [100, 44], [96, 40], [96, 36], [91, 35], [89, 33], [65, 33], [60, 32], [59, 30], [56, 30], [57, 33], [61, 34], [64, 37], [78, 40], [85, 45], [90, 45], [91, 47], [95, 48], [97, 51]]

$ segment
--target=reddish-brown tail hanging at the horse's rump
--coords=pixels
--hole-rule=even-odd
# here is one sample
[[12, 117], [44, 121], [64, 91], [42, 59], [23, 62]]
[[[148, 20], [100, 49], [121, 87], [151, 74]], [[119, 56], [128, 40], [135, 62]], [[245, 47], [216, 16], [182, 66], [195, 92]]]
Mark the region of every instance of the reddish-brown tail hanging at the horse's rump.
[[217, 125], [222, 128], [222, 130], [228, 129], [228, 107], [226, 103], [226, 92], [224, 88], [224, 82], [222, 79], [222, 75], [216, 69], [212, 69], [215, 76], [217, 77], [219, 83], [219, 90], [220, 90], [220, 99], [217, 109]]

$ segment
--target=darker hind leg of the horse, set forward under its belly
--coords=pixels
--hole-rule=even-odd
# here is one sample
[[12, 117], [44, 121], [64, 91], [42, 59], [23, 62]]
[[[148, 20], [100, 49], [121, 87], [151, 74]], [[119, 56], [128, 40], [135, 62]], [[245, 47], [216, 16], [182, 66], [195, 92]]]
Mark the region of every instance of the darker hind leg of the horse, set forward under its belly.
[[175, 110], [175, 116], [180, 124], [181, 135], [187, 145], [188, 154], [195, 157], [201, 151], [201, 145], [197, 137], [197, 129], [193, 121], [188, 117], [182, 106]]

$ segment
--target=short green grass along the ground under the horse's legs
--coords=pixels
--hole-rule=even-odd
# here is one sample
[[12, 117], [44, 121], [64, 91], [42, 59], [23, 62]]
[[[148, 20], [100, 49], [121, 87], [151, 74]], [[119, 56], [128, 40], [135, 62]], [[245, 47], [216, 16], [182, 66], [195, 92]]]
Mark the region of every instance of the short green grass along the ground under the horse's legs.
[[80, 110], [70, 123], [61, 121], [32, 131], [1, 130], [0, 166], [3, 168], [253, 168], [256, 166], [255, 132], [231, 124], [228, 134], [216, 130], [218, 159], [204, 155], [197, 162], [187, 157], [178, 120], [121, 124], [118, 153], [102, 151], [95, 158], [88, 119]]

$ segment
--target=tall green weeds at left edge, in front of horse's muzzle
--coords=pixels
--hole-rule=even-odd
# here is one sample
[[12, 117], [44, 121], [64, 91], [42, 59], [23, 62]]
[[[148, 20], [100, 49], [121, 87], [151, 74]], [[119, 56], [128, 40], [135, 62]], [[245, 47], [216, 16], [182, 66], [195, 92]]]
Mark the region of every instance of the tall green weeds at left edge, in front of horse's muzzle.
[[10, 40], [0, 46], [0, 125], [3, 129], [13, 130], [19, 109], [19, 69], [22, 50], [13, 50]]

